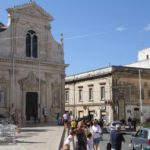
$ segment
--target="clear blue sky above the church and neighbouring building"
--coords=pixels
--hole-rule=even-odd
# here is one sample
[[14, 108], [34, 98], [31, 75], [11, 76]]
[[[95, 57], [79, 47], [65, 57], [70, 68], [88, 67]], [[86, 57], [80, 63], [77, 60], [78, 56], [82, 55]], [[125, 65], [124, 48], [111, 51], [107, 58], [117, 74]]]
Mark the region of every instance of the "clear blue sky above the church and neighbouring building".
[[[6, 9], [29, 0], [5, 0]], [[36, 0], [54, 17], [52, 34], [64, 34], [66, 75], [137, 61], [138, 51], [150, 47], [149, 0]]]

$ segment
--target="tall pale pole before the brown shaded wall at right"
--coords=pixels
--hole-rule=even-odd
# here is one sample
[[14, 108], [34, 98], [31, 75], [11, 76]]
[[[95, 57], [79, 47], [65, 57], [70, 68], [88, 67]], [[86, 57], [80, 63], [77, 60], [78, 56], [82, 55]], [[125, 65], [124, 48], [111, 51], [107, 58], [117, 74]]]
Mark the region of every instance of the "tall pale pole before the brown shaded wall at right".
[[143, 110], [142, 110], [142, 94], [141, 94], [141, 70], [139, 69], [139, 98], [140, 98], [140, 121], [143, 124]]

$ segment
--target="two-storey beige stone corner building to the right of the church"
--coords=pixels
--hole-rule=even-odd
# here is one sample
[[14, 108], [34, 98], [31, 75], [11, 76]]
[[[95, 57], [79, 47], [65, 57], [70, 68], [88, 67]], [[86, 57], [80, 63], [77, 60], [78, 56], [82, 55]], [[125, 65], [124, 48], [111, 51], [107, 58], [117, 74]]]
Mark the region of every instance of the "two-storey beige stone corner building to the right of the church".
[[[149, 52], [146, 56], [149, 61]], [[139, 60], [140, 61], [140, 60]], [[145, 62], [145, 60], [144, 60]], [[89, 113], [94, 118], [126, 120], [128, 117], [139, 121], [150, 118], [150, 69], [140, 61], [133, 66], [108, 66], [65, 79], [65, 109], [77, 117]]]

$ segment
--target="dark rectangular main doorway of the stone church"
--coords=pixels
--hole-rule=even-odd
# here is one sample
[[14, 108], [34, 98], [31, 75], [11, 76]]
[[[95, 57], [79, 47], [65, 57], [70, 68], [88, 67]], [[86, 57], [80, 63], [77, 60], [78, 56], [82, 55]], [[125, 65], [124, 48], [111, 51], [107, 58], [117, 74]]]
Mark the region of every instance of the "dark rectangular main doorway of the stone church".
[[38, 116], [38, 93], [26, 93], [26, 120], [36, 120]]

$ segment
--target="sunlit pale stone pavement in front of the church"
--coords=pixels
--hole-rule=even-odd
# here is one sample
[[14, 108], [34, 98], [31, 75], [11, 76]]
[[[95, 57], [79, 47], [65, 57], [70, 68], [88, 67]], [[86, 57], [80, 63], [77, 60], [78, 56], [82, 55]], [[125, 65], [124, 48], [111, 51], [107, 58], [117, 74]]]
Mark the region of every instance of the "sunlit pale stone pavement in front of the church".
[[64, 127], [31, 125], [16, 134], [16, 144], [0, 144], [0, 150], [59, 150]]

